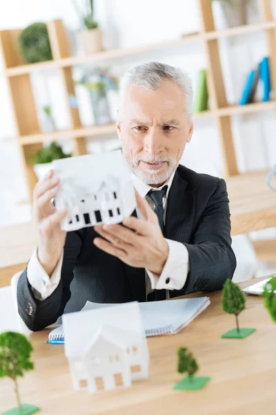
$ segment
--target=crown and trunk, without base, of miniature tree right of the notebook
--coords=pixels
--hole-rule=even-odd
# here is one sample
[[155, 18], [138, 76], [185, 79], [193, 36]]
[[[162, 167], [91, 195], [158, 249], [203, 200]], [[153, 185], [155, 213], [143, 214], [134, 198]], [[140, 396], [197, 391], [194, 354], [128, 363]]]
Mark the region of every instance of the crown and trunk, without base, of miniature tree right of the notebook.
[[238, 315], [246, 308], [244, 293], [237, 284], [226, 279], [222, 291], [222, 308], [226, 313], [235, 314], [237, 332], [239, 333]]

